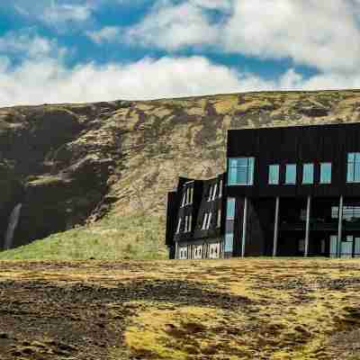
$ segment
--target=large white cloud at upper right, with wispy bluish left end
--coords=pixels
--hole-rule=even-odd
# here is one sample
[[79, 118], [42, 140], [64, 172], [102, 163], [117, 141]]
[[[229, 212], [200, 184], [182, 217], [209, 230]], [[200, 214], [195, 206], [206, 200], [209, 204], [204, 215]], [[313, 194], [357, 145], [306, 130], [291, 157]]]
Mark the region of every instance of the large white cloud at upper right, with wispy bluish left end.
[[[209, 9], [222, 12], [214, 23]], [[292, 58], [321, 71], [356, 71], [358, 0], [159, 0], [127, 30], [136, 44], [178, 50], [206, 45], [257, 58]]]

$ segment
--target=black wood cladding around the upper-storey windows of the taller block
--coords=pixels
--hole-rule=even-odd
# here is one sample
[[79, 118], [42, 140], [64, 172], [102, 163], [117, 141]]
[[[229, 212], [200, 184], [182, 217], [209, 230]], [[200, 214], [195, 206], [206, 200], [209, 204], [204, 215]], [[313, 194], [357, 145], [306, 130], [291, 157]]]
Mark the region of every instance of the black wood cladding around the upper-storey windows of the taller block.
[[[347, 153], [360, 152], [360, 123], [229, 130], [228, 157], [255, 157], [254, 185], [228, 186], [229, 196], [356, 196], [347, 184]], [[320, 184], [320, 163], [331, 162], [331, 184]], [[314, 164], [314, 184], [302, 184], [302, 165]], [[280, 184], [268, 184], [268, 166], [280, 165]], [[297, 165], [296, 184], [284, 184], [286, 164]]]

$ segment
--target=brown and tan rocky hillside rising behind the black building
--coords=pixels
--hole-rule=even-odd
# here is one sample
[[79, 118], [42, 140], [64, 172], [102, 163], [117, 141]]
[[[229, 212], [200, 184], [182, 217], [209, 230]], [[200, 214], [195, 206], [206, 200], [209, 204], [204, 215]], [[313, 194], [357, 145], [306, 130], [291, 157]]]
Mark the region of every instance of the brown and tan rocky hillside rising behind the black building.
[[0, 109], [0, 239], [19, 202], [15, 246], [110, 209], [162, 214], [178, 175], [224, 170], [230, 128], [346, 121], [360, 121], [359, 91]]

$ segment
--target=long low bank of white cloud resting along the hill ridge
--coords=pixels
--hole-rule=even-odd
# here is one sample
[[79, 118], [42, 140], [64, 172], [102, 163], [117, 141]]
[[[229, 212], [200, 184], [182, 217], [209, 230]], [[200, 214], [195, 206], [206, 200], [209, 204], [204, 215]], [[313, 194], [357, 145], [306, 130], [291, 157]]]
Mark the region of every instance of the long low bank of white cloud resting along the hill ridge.
[[[67, 50], [69, 51], [69, 50]], [[0, 106], [154, 99], [257, 90], [360, 87], [360, 70], [329, 71], [311, 78], [289, 69], [270, 81], [204, 57], [143, 58], [129, 64], [67, 67], [67, 51], [36, 34], [0, 38]], [[9, 52], [21, 54], [12, 62]]]

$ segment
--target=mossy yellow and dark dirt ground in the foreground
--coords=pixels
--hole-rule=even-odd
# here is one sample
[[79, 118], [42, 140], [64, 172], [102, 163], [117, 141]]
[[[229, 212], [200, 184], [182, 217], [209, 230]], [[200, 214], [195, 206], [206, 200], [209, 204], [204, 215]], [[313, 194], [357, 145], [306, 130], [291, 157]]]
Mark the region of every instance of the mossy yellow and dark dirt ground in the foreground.
[[1, 262], [0, 359], [360, 359], [360, 259]]

